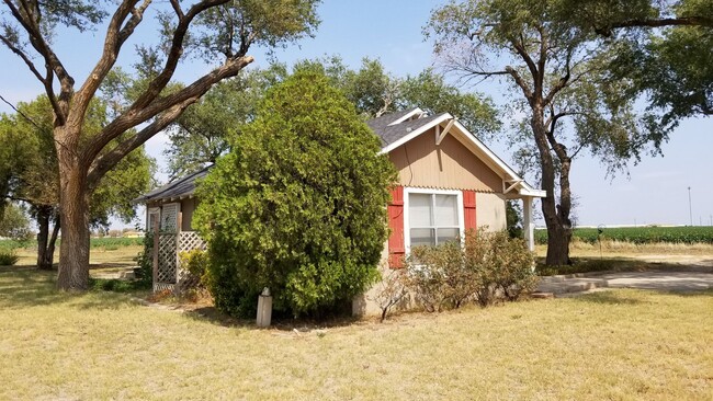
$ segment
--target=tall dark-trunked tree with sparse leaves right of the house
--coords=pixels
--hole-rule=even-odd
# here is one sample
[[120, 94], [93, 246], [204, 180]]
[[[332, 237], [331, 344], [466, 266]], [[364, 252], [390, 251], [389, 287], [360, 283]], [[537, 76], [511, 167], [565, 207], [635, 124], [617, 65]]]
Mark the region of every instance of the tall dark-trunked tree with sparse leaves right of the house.
[[609, 81], [612, 58], [603, 39], [567, 23], [562, 1], [467, 0], [438, 8], [426, 28], [445, 68], [465, 78], [503, 79], [511, 90], [513, 130], [531, 154], [547, 196], [548, 265], [568, 264], [573, 160], [587, 149], [610, 169], [657, 148], [666, 133], [637, 119], [627, 82]]

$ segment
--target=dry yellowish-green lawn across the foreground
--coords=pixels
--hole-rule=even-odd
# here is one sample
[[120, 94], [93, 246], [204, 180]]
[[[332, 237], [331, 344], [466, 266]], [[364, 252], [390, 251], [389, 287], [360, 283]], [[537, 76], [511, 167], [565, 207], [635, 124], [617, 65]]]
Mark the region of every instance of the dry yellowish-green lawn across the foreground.
[[713, 291], [606, 291], [295, 332], [58, 294], [52, 274], [0, 272], [0, 399], [713, 394]]

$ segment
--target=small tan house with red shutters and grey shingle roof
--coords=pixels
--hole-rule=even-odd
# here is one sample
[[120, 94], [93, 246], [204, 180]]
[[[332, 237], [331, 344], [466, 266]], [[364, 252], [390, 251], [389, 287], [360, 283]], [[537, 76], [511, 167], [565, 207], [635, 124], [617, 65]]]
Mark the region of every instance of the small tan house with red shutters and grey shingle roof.
[[[398, 171], [384, 265], [399, 267], [411, 247], [438, 244], [471, 228], [505, 229], [507, 199], [522, 199], [524, 236], [534, 249], [532, 200], [545, 192], [529, 185], [452, 115], [428, 115], [417, 107], [366, 124]], [[191, 231], [199, 202], [195, 181], [205, 174], [207, 170], [200, 171], [136, 199], [147, 205], [148, 229], [158, 224], [162, 230]]]

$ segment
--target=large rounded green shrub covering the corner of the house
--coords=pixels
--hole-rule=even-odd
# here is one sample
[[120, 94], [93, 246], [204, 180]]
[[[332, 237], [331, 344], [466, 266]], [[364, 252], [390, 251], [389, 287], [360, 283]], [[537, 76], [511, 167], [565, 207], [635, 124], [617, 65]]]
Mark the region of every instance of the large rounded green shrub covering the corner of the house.
[[377, 277], [395, 179], [380, 139], [314, 71], [273, 87], [200, 185], [216, 306], [252, 316], [263, 287], [278, 312], [317, 316]]

